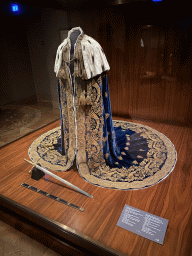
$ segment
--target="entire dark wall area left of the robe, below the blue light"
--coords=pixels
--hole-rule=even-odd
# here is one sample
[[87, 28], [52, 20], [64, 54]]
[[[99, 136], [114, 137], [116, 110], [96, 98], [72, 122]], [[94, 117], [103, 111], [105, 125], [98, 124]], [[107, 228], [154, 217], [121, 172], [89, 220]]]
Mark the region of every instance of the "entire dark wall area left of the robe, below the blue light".
[[60, 31], [68, 29], [67, 12], [26, 1], [13, 14], [11, 1], [3, 3], [0, 14], [6, 26], [0, 39], [0, 105], [32, 97], [58, 108], [54, 62]]

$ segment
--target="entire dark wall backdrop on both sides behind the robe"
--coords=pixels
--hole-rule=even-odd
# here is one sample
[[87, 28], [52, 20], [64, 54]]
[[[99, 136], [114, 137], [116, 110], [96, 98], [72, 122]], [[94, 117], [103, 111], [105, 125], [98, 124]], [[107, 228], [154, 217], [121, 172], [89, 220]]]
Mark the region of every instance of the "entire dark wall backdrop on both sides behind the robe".
[[60, 31], [81, 26], [107, 56], [114, 115], [191, 125], [192, 21], [184, 1], [20, 0], [19, 14], [11, 3], [0, 9], [0, 106], [28, 98], [56, 106]]

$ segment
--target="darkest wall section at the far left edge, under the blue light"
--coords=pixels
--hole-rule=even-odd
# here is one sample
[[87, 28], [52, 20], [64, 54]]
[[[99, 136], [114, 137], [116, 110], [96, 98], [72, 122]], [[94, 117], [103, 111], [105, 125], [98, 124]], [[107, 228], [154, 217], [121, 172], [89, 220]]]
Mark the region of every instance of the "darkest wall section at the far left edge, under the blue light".
[[[4, 8], [3, 8], [4, 7]], [[1, 6], [0, 105], [27, 98], [36, 92], [26, 35], [26, 19]]]

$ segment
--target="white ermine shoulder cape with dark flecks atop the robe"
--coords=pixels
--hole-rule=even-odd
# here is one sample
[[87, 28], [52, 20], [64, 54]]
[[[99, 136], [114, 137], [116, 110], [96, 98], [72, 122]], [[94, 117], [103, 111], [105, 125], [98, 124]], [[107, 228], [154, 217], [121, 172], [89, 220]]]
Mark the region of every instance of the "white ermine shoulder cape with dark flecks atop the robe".
[[77, 29], [80, 30], [81, 34], [77, 39], [74, 53], [74, 57], [77, 60], [74, 76], [79, 76], [83, 79], [90, 79], [96, 77], [97, 75], [101, 75], [105, 71], [110, 70], [107, 58], [100, 44], [92, 37], [85, 35], [82, 29], [79, 27], [70, 30], [68, 33], [68, 37], [57, 49], [54, 67], [56, 76], [60, 77], [62, 73], [62, 76], [65, 77], [65, 75], [63, 74], [63, 69], [65, 69], [65, 67], [62, 67], [63, 53], [66, 51], [67, 48], [66, 57], [68, 60], [69, 48], [71, 47], [70, 35], [74, 30]]

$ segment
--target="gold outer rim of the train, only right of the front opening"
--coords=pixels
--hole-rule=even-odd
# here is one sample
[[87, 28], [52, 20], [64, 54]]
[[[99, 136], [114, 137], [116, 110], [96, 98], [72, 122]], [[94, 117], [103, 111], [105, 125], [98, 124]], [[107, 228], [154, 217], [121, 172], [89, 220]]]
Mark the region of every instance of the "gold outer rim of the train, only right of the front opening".
[[[172, 172], [172, 170], [174, 169], [175, 164], [176, 164], [177, 153], [176, 153], [174, 145], [171, 143], [171, 141], [165, 135], [163, 135], [162, 133], [160, 133], [148, 126], [144, 126], [144, 125], [140, 125], [140, 124], [133, 124], [133, 123], [126, 122], [126, 121], [113, 121], [113, 123], [114, 123], [114, 127], [117, 127], [120, 125], [123, 129], [131, 128], [131, 129], [135, 130], [136, 132], [143, 132], [143, 135], [144, 135], [143, 128], [150, 131], [152, 134], [156, 134], [164, 142], [164, 144], [166, 146], [167, 159], [166, 159], [163, 167], [161, 168], [161, 170], [159, 170], [152, 176], [145, 178], [142, 181], [133, 181], [133, 182], [128, 182], [128, 181], [127, 182], [115, 182], [115, 181], [113, 182], [113, 181], [100, 179], [98, 177], [91, 175], [88, 168], [84, 165], [84, 169], [80, 168], [79, 173], [86, 181], [88, 181], [92, 184], [101, 186], [101, 187], [124, 189], [124, 190], [140, 189], [140, 188], [145, 188], [145, 187], [149, 187], [149, 186], [157, 184], [161, 180], [165, 179]], [[140, 165], [137, 168], [139, 169], [142, 164], [143, 164], [143, 161], [140, 163]], [[102, 168], [105, 168], [105, 172], [106, 173], [110, 172], [110, 174], [112, 174], [113, 172], [116, 171], [116, 169], [118, 169], [118, 168], [110, 168], [109, 166], [101, 164], [99, 169], [102, 169]], [[99, 172], [99, 169], [98, 169], [98, 172]], [[125, 173], [127, 173], [127, 169], [124, 167], [121, 168], [121, 172], [123, 172], [123, 171]]]

